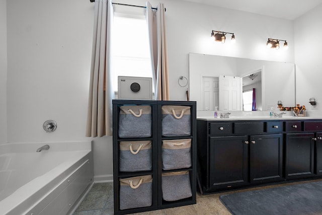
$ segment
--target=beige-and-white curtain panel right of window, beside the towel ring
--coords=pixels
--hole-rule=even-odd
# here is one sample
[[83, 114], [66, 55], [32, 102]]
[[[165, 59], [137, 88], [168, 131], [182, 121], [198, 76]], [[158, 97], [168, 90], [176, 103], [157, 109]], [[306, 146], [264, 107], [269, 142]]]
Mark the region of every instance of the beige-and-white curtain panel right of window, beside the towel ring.
[[151, 66], [155, 100], [170, 100], [168, 50], [165, 23], [165, 7], [160, 3], [157, 11], [146, 2], [146, 20], [149, 32]]

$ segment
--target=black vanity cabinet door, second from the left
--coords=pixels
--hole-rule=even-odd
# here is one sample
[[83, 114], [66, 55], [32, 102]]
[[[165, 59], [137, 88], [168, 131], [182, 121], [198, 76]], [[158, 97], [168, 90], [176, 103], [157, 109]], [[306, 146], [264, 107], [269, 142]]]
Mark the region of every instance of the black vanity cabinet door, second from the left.
[[253, 135], [250, 137], [251, 183], [282, 180], [282, 134]]

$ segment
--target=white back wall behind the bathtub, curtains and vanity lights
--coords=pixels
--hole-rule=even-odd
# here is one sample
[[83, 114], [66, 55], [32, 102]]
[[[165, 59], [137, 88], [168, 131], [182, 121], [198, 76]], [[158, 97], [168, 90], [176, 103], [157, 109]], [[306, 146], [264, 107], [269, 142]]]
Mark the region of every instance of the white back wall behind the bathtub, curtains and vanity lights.
[[[150, 1], [153, 6], [158, 2]], [[189, 52], [294, 62], [291, 21], [182, 1], [163, 2], [172, 100], [186, 99], [186, 88], [178, 85], [178, 79], [189, 75]], [[145, 0], [135, 4], [145, 5]], [[87, 139], [94, 3], [16, 0], [8, 1], [7, 7], [8, 142]], [[211, 30], [234, 32], [236, 44], [210, 41]], [[267, 49], [268, 37], [286, 39], [289, 50]], [[42, 129], [47, 119], [57, 121], [55, 132]], [[111, 179], [111, 137], [94, 139], [94, 157], [96, 179]]]

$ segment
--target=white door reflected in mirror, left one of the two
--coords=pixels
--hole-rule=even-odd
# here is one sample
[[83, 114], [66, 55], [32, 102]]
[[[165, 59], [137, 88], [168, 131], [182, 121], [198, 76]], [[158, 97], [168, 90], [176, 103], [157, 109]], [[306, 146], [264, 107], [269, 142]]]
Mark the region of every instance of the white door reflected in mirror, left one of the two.
[[202, 110], [214, 110], [218, 106], [218, 77], [202, 77]]

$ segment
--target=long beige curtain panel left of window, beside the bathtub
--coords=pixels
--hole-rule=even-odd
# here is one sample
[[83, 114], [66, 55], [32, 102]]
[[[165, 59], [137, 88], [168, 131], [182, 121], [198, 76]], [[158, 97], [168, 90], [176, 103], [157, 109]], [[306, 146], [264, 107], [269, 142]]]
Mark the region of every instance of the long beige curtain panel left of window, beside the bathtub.
[[112, 135], [113, 93], [110, 89], [112, 23], [111, 0], [96, 0], [86, 136]]

